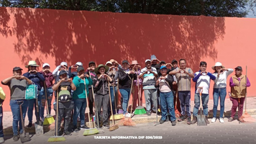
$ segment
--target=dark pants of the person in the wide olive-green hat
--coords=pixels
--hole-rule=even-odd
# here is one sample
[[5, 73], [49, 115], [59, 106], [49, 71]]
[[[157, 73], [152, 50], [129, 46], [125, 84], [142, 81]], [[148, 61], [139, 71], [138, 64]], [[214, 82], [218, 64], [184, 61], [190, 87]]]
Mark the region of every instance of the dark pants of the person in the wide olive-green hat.
[[[102, 109], [103, 115], [102, 115], [102, 124], [108, 124], [108, 105], [110, 104], [109, 101], [109, 94], [107, 95], [95, 95], [95, 105], [97, 107], [99, 121], [100, 120], [100, 111]], [[95, 124], [97, 124], [97, 115], [95, 118]]]

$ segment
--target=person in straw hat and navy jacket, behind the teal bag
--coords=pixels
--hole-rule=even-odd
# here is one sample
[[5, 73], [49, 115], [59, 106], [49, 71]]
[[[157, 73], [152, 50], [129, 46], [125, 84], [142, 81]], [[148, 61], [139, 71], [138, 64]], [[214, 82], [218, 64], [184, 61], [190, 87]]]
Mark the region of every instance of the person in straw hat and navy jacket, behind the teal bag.
[[[41, 100], [42, 96], [44, 95], [44, 92], [41, 91], [42, 89], [42, 83], [44, 83], [45, 78], [44, 75], [36, 70], [38, 65], [34, 60], [29, 61], [29, 64], [25, 66], [28, 68], [29, 72], [26, 72], [23, 74], [26, 78], [29, 78], [35, 85], [38, 86], [38, 109], [39, 109], [39, 115], [37, 115], [37, 112], [35, 111], [36, 118], [39, 119], [41, 117]], [[35, 107], [36, 109], [36, 104], [35, 104], [35, 99], [28, 100], [29, 101], [29, 108], [28, 108], [28, 118], [29, 118], [29, 125], [27, 127], [32, 127], [32, 118], [33, 118], [33, 109]]]

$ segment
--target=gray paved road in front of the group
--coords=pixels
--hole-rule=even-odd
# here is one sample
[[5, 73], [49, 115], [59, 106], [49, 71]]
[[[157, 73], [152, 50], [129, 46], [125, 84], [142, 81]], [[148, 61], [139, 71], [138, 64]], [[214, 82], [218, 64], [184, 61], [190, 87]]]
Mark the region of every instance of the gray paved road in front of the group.
[[[256, 115], [253, 115], [256, 118]], [[65, 142], [57, 142], [58, 144], [256, 144], [256, 124], [239, 124], [238, 121], [227, 122], [221, 124], [217, 120], [214, 124], [208, 126], [197, 126], [187, 124], [177, 124], [172, 126], [170, 122], [157, 126], [149, 126], [148, 124], [137, 124], [136, 127], [119, 127], [115, 131], [106, 129], [104, 134], [83, 136], [83, 131], [72, 133], [65, 136]], [[47, 143], [49, 133], [40, 137], [31, 135], [31, 141], [26, 144], [44, 144]], [[97, 139], [103, 136], [137, 136], [138, 139]], [[160, 139], [141, 139], [139, 136], [158, 136]], [[108, 137], [105, 137], [108, 138]], [[150, 137], [149, 137], [150, 138]], [[155, 137], [157, 138], [157, 137]], [[6, 144], [20, 144], [20, 141], [13, 142], [12, 136], [6, 136]]]

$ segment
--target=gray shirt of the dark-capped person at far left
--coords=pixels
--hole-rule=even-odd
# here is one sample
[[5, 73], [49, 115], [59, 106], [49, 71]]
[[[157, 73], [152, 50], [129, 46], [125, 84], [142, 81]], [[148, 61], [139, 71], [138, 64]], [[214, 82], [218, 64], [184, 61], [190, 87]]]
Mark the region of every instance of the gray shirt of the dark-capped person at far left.
[[26, 80], [17, 80], [16, 78], [11, 79], [7, 84], [11, 91], [11, 100], [23, 100], [25, 99], [26, 86], [28, 85]]

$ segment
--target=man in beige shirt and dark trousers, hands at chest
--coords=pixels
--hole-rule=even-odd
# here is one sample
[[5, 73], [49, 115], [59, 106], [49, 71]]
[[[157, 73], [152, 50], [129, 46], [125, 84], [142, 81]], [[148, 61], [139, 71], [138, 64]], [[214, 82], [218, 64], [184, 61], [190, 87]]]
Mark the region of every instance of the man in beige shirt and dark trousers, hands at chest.
[[[178, 121], [185, 119], [185, 113], [187, 114], [187, 124], [191, 124], [190, 114], [190, 89], [191, 89], [191, 78], [195, 75], [190, 67], [186, 67], [186, 60], [180, 59], [180, 68], [176, 68], [169, 72], [169, 75], [175, 75], [177, 78], [177, 90], [180, 100], [181, 117]], [[185, 108], [186, 106], [186, 108]]]

